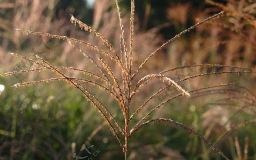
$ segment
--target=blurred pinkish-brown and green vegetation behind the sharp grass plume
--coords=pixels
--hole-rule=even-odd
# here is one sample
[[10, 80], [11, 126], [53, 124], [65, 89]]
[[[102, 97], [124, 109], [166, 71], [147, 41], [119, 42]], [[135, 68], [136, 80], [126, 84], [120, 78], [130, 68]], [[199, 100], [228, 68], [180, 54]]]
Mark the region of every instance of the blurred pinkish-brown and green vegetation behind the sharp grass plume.
[[[135, 1], [134, 65], [163, 42], [189, 26], [225, 10], [223, 18], [213, 20], [185, 34], [147, 63], [143, 74], [189, 64], [225, 64], [256, 69], [256, 3], [242, 1]], [[120, 1], [125, 29], [129, 29], [130, 1]], [[0, 1], [0, 73], [31, 67], [29, 62], [11, 57], [13, 52], [26, 57], [33, 52], [59, 66], [90, 68], [67, 42], [39, 36], [25, 36], [13, 28], [76, 37], [102, 45], [92, 35], [73, 26], [70, 14], [103, 34], [119, 47], [119, 30], [113, 1]], [[127, 32], [126, 32], [127, 34]], [[171, 75], [182, 79], [189, 73], [206, 69], [183, 70]], [[218, 71], [219, 68], [214, 70]], [[74, 73], [75, 74], [75, 73]], [[97, 111], [82, 94], [69, 85], [49, 83], [24, 88], [11, 88], [19, 82], [48, 77], [50, 73], [29, 73], [0, 77], [5, 89], [0, 95], [0, 159], [72, 159], [83, 144], [90, 146], [81, 156], [93, 159], [124, 159], [118, 142]], [[216, 145], [230, 159], [256, 159], [255, 73], [218, 75], [189, 81], [187, 88], [224, 82], [240, 82], [251, 92], [236, 94], [228, 104], [211, 93], [189, 100], [168, 103], [154, 116], [171, 117], [187, 124]], [[235, 88], [236, 89], [236, 88]], [[243, 89], [246, 90], [246, 89]], [[143, 90], [146, 94], [150, 90]], [[116, 104], [99, 90], [98, 96]], [[168, 93], [166, 93], [168, 95]], [[231, 96], [234, 93], [231, 94]], [[230, 97], [230, 94], [228, 94]], [[245, 101], [246, 97], [250, 97]], [[138, 103], [141, 100], [138, 98]], [[158, 103], [155, 100], [156, 104]], [[223, 102], [223, 103], [221, 103]], [[152, 104], [154, 105], [154, 104]], [[243, 107], [249, 106], [246, 109]], [[117, 113], [117, 111], [116, 111]], [[118, 117], [118, 115], [116, 115]], [[230, 120], [232, 118], [232, 120]], [[246, 126], [243, 122], [249, 122]], [[236, 128], [236, 129], [234, 129]], [[231, 132], [230, 132], [231, 131]], [[88, 144], [89, 143], [89, 144]], [[89, 154], [95, 153], [95, 154]], [[97, 153], [97, 154], [96, 154]], [[89, 158], [85, 158], [89, 159]], [[168, 124], [156, 123], [139, 131], [130, 141], [128, 159], [220, 159], [209, 146], [193, 135]]]

